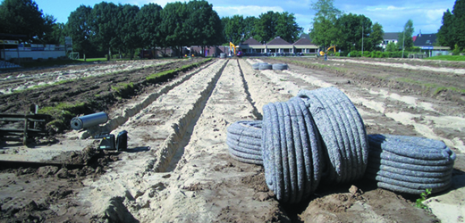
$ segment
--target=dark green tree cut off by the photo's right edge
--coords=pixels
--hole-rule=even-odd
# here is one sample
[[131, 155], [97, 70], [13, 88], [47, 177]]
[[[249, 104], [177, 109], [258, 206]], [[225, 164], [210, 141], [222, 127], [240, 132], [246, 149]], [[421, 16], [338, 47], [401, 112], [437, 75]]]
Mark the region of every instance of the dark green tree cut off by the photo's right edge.
[[[465, 0], [456, 0], [453, 4], [453, 39], [460, 50], [465, 49]], [[451, 46], [452, 48], [452, 46]]]

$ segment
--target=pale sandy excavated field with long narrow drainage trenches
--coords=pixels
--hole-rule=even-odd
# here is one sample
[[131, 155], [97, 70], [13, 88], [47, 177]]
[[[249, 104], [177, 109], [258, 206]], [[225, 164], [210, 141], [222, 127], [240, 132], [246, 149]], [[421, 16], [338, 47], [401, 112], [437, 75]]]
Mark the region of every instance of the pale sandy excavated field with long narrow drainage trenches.
[[[131, 96], [100, 103], [105, 104], [100, 111], [110, 117], [101, 128], [114, 134], [129, 132], [125, 152], [96, 150], [99, 141], [89, 138], [89, 131], [71, 128], [48, 145], [1, 143], [3, 162], [54, 165], [2, 164], [0, 222], [465, 221], [465, 94], [461, 92], [465, 89], [465, 63], [278, 59], [214, 60], [159, 84], [140, 87]], [[151, 62], [156, 61], [138, 65], [144, 67], [141, 70], [77, 80], [82, 83], [65, 82], [55, 90], [4, 93], [0, 95], [0, 108], [3, 112], [20, 112], [24, 106], [41, 101], [47, 105], [78, 103], [84, 95], [103, 95], [111, 89], [110, 85], [100, 87], [105, 82], [102, 78], [114, 84], [136, 83], [160, 67], [185, 65], [179, 61], [167, 65]], [[289, 70], [253, 70], [251, 64], [255, 62], [287, 62]], [[69, 69], [114, 72], [100, 66]], [[136, 64], [128, 62], [125, 66]], [[35, 77], [38, 85], [41, 76], [50, 76], [38, 74], [72, 73], [70, 70], [1, 73], [0, 85], [2, 90], [16, 88], [21, 86], [18, 83], [32, 81], [18, 82], [26, 76]], [[20, 78], [14, 82], [13, 77]], [[395, 194], [365, 179], [319, 186], [309, 200], [299, 204], [277, 202], [266, 186], [263, 167], [229, 156], [226, 128], [238, 120], [261, 120], [266, 103], [287, 101], [300, 89], [319, 87], [338, 87], [348, 95], [368, 134], [443, 140], [457, 153], [452, 187], [429, 197], [425, 202], [428, 210], [414, 206], [416, 195]], [[66, 94], [63, 89], [68, 88], [74, 90]], [[26, 98], [35, 99], [22, 101]], [[48, 100], [51, 98], [54, 101]], [[350, 191], [353, 186], [358, 190]]]

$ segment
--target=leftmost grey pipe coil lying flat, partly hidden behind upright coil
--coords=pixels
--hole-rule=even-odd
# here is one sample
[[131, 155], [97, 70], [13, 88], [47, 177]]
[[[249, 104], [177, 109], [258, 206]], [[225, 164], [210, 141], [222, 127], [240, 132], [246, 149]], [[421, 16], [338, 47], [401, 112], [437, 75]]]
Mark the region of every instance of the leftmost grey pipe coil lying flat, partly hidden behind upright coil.
[[229, 153], [233, 159], [252, 164], [263, 164], [261, 120], [236, 121], [226, 131], [226, 145], [228, 145]]

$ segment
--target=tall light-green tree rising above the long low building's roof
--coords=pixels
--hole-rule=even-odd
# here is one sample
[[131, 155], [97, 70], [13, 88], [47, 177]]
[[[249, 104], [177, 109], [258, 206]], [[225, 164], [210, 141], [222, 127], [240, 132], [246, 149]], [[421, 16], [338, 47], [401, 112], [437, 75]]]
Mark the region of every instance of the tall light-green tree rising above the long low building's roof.
[[334, 7], [334, 0], [318, 0], [311, 4], [311, 9], [316, 11], [313, 17], [310, 38], [316, 45], [335, 45], [338, 38], [337, 20], [342, 12]]

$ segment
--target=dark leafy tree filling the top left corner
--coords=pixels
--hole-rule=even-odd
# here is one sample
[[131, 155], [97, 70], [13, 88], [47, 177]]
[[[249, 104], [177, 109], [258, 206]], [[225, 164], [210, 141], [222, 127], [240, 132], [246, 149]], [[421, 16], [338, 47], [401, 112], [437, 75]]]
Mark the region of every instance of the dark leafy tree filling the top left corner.
[[4, 0], [0, 4], [0, 33], [26, 35], [23, 41], [37, 43], [52, 30], [53, 17], [46, 17], [32, 0]]

